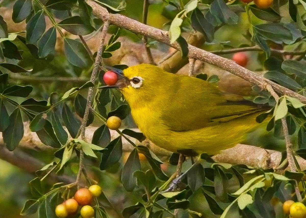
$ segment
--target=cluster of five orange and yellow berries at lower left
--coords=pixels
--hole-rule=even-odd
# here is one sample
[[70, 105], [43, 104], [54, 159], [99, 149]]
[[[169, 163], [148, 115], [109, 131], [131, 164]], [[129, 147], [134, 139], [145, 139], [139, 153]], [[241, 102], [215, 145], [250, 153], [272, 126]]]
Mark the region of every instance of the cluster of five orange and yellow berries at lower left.
[[[80, 188], [73, 198], [69, 198], [55, 208], [55, 214], [59, 218], [74, 217], [78, 212], [82, 218], [93, 218], [95, 210], [90, 206], [93, 197], [98, 197], [102, 193], [102, 188], [92, 185], [88, 189]], [[79, 209], [79, 206], [82, 206]]]

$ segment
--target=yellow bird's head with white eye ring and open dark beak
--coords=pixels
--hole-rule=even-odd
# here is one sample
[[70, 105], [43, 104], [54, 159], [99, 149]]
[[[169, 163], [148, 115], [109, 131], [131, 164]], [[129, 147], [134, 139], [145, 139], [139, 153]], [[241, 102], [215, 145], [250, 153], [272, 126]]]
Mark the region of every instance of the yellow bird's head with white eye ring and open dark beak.
[[123, 71], [109, 69], [118, 74], [118, 81], [113, 87], [120, 89], [131, 107], [148, 104], [167, 92], [166, 84], [171, 74], [155, 65], [139, 64]]

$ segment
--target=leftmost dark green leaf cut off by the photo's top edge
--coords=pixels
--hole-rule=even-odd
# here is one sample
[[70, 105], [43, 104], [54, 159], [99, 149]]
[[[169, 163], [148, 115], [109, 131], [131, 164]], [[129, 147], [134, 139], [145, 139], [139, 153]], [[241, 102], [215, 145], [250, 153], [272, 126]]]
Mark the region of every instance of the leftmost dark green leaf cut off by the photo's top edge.
[[17, 0], [13, 6], [12, 19], [19, 23], [26, 19], [32, 11], [32, 0]]

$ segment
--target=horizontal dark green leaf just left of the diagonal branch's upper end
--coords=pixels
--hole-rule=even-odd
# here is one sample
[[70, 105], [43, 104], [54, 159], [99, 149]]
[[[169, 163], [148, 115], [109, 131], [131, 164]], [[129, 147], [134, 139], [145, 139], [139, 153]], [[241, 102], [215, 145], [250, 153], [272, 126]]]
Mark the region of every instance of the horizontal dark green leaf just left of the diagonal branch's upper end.
[[88, 35], [95, 31], [95, 28], [86, 24], [80, 16], [68, 17], [59, 22], [58, 26], [74, 35]]

